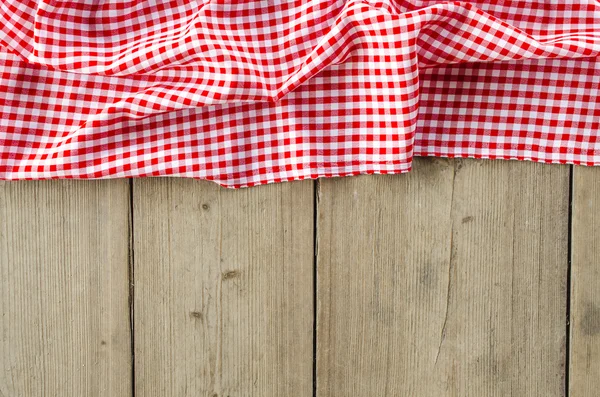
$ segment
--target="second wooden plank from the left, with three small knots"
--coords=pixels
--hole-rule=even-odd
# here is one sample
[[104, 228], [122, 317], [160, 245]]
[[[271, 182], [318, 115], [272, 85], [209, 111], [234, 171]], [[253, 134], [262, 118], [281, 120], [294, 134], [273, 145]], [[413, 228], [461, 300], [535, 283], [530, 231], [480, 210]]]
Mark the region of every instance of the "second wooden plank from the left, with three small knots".
[[136, 396], [310, 396], [313, 184], [134, 185]]

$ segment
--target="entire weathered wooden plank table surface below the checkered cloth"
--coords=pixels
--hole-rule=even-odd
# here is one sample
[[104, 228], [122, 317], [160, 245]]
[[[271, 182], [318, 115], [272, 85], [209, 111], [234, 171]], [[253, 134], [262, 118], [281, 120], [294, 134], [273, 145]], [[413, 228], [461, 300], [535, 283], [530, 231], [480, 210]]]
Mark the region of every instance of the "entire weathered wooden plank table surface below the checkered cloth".
[[0, 182], [0, 396], [598, 396], [600, 168]]

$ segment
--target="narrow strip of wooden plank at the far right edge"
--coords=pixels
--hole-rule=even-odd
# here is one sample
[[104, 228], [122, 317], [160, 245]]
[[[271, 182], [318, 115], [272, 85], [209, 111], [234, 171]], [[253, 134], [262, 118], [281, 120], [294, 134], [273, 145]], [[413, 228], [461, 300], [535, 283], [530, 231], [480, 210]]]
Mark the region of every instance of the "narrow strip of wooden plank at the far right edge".
[[570, 396], [600, 390], [600, 169], [575, 167], [571, 235]]

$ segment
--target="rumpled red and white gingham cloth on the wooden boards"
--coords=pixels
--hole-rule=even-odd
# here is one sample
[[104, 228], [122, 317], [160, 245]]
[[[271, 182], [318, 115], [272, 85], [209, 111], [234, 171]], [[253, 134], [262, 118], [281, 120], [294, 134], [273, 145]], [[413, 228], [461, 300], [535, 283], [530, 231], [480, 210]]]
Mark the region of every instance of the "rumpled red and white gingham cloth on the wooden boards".
[[2, 0], [0, 179], [600, 164], [595, 0]]

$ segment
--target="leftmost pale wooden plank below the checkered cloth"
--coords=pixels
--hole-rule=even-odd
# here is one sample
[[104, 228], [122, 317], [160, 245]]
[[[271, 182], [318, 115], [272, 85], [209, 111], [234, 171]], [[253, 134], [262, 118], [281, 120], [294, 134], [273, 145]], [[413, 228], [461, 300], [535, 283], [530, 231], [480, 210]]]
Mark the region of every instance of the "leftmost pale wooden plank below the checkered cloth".
[[127, 181], [0, 182], [0, 396], [129, 396]]

